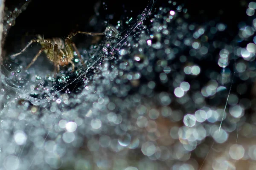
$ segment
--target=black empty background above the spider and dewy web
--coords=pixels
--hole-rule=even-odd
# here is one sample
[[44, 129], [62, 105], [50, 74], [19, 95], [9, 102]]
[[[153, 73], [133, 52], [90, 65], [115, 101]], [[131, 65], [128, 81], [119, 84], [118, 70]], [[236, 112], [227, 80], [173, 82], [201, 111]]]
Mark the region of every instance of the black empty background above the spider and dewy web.
[[[6, 0], [6, 7], [13, 10], [20, 7], [24, 0]], [[17, 17], [16, 24], [9, 30], [4, 49], [13, 50], [13, 42], [26, 37], [26, 41], [43, 34], [45, 38], [65, 37], [72, 31], [104, 31], [108, 24], [116, 25], [119, 19], [137, 17], [148, 4], [148, 0], [102, 0], [105, 5], [99, 8], [97, 27], [90, 26], [92, 16], [95, 16], [96, 0], [32, 0], [26, 11]], [[173, 1], [172, 1], [173, 2]], [[246, 17], [246, 0], [177, 0], [177, 5], [185, 4], [191, 15], [190, 22], [203, 24], [205, 21], [217, 20], [233, 28], [230, 34], [237, 34], [238, 23]], [[176, 6], [177, 6], [176, 5]], [[168, 0], [157, 0], [155, 8], [171, 6]], [[131, 10], [133, 12], [131, 12]], [[154, 12], [154, 9], [152, 10]], [[112, 19], [113, 18], [113, 19]], [[98, 28], [98, 30], [95, 30]], [[232, 37], [231, 35], [231, 37]]]

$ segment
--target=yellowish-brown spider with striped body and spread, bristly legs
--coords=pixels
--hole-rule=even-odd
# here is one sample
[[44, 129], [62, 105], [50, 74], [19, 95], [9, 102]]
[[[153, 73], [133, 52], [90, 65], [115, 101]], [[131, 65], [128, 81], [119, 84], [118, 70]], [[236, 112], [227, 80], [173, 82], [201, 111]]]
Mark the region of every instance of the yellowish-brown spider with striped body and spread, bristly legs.
[[106, 31], [102, 33], [92, 33], [92, 32], [82, 32], [82, 31], [76, 31], [75, 33], [71, 33], [68, 35], [65, 40], [61, 38], [52, 38], [52, 39], [44, 39], [41, 37], [41, 35], [37, 35], [38, 39], [31, 40], [23, 50], [21, 50], [19, 53], [11, 55], [11, 57], [18, 56], [22, 54], [26, 49], [31, 45], [33, 42], [38, 42], [41, 44], [42, 48], [38, 51], [38, 53], [35, 55], [35, 57], [32, 59], [32, 61], [29, 63], [29, 65], [25, 68], [27, 70], [40, 56], [42, 51], [47, 55], [47, 58], [53, 62], [54, 64], [54, 77], [56, 77], [56, 73], [59, 72], [60, 66], [66, 66], [71, 63], [72, 65], [72, 72], [75, 70], [75, 65], [72, 62], [73, 59], [73, 53], [76, 51], [77, 56], [79, 57], [81, 63], [84, 65], [84, 62], [81, 58], [81, 55], [76, 48], [76, 45], [74, 42], [72, 42], [71, 38], [74, 37], [76, 34], [86, 34], [86, 35], [104, 35]]

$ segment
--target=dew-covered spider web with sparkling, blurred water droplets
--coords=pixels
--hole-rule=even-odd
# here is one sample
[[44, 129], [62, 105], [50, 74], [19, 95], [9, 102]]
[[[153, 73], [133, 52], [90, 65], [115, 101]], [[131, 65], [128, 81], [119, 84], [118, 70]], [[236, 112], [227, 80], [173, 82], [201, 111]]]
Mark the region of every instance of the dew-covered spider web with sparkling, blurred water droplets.
[[[154, 3], [80, 48], [86, 66], [74, 54], [74, 73], [55, 79], [36, 63], [25, 71], [29, 50], [4, 63], [0, 167], [196, 170], [256, 160], [255, 145], [238, 142], [255, 135], [245, 113], [255, 109], [256, 3], [231, 40], [225, 23], [192, 23], [183, 6]], [[207, 163], [233, 133], [227, 158]]]

